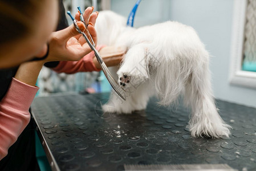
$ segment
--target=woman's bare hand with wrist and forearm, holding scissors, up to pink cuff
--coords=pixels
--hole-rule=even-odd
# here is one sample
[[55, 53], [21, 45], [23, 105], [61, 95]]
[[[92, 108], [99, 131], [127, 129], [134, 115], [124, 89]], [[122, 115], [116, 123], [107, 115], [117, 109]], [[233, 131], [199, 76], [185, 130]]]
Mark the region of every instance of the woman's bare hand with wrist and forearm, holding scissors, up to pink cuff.
[[[92, 11], [93, 8], [88, 7], [84, 11], [83, 17], [84, 21], [89, 22], [88, 30], [96, 44], [97, 34], [94, 25], [97, 13], [92, 13]], [[75, 17], [76, 20], [79, 21], [78, 26], [80, 30], [85, 30], [84, 24], [79, 20], [79, 13], [77, 13]], [[86, 40], [76, 31], [74, 25], [53, 32], [50, 37], [49, 46], [49, 54], [45, 60], [22, 63], [21, 66], [19, 66], [15, 78], [23, 83], [35, 86], [36, 79], [44, 63], [59, 60], [79, 60], [91, 52], [91, 48], [86, 43]]]

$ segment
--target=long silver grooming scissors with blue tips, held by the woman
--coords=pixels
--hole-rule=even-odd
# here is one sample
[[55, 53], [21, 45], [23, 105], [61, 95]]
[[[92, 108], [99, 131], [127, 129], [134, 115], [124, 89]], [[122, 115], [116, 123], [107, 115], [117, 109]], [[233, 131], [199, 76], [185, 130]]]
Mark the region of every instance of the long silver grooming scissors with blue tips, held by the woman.
[[[78, 7], [79, 11], [80, 11], [80, 7]], [[124, 100], [125, 99], [125, 95], [122, 95], [121, 92], [123, 92], [124, 94], [124, 89], [121, 88], [119, 86], [119, 84], [116, 82], [116, 80], [113, 78], [113, 76], [111, 75], [110, 71], [108, 70], [107, 66], [105, 65], [103, 59], [101, 58], [99, 52], [96, 50], [95, 48], [95, 43], [94, 43], [94, 40], [92, 39], [92, 36], [90, 34], [90, 32], [88, 31], [88, 27], [87, 27], [87, 24], [86, 22], [84, 22], [84, 18], [83, 18], [83, 14], [82, 12], [80, 11], [80, 20], [84, 23], [84, 25], [86, 26], [86, 31], [87, 31], [87, 34], [89, 36], [89, 38], [91, 39], [91, 41], [88, 39], [88, 37], [86, 36], [86, 34], [84, 34], [83, 31], [80, 30], [80, 28], [78, 27], [78, 24], [76, 23], [76, 19], [72, 17], [70, 11], [67, 11], [67, 14], [70, 15], [73, 23], [74, 23], [74, 26], [76, 28], [76, 31], [78, 31], [80, 34], [83, 35], [84, 39], [86, 39], [86, 42], [88, 43], [88, 45], [90, 46], [90, 48], [94, 51], [94, 54], [95, 54], [95, 57], [97, 59], [97, 62], [99, 62], [100, 64], [100, 67], [104, 73], [104, 75], [106, 76], [108, 82], [110, 83], [111, 87], [115, 90], [115, 92]]]

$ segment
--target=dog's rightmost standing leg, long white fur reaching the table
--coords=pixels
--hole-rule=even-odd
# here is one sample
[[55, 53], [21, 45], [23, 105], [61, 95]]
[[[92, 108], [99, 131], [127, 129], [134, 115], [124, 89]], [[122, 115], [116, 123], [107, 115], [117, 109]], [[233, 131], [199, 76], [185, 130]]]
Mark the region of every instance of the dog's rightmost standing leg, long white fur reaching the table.
[[[208, 56], [206, 56], [208, 58]], [[201, 60], [202, 62], [202, 60]], [[185, 86], [185, 102], [192, 108], [189, 127], [192, 136], [229, 136], [231, 128], [218, 114], [212, 88], [208, 60], [194, 66]]]

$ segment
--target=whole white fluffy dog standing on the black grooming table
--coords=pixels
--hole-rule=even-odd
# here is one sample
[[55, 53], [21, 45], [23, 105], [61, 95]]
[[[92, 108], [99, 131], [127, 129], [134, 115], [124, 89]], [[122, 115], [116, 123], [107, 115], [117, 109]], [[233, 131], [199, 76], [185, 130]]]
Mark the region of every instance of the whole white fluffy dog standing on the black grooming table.
[[126, 27], [125, 18], [111, 11], [101, 11], [95, 27], [98, 44], [128, 49], [119, 68], [111, 68], [128, 92], [127, 100], [112, 92], [104, 111], [142, 110], [155, 95], [159, 104], [168, 106], [183, 95], [192, 109], [192, 136], [229, 136], [230, 126], [218, 114], [212, 95], [209, 54], [192, 27], [168, 21], [136, 29]]

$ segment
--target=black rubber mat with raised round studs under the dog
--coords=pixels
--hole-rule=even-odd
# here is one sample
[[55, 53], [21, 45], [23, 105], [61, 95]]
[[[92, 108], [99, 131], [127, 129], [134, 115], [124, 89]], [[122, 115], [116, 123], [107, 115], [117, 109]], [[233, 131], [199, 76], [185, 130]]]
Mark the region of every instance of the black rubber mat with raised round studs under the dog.
[[167, 109], [151, 99], [145, 111], [116, 115], [101, 111], [108, 96], [35, 98], [38, 132], [52, 153], [49, 161], [53, 157], [60, 170], [123, 170], [124, 164], [228, 164], [256, 170], [255, 108], [217, 100], [232, 135], [193, 138], [186, 128], [189, 111], [182, 105]]

